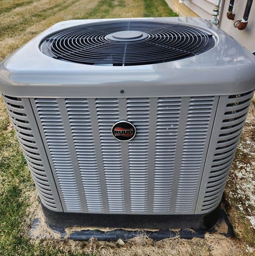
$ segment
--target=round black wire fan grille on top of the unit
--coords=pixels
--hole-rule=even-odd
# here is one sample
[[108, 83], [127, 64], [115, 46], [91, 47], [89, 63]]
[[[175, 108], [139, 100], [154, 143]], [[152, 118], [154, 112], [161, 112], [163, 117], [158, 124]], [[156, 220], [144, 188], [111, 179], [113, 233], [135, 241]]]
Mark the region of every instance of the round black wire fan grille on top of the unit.
[[[111, 40], [111, 35], [120, 31], [139, 31], [143, 37], [123, 41], [114, 41], [112, 37]], [[155, 21], [108, 21], [57, 33], [42, 43], [42, 51], [53, 58], [76, 63], [135, 66], [192, 57], [214, 45], [212, 35], [191, 26]]]

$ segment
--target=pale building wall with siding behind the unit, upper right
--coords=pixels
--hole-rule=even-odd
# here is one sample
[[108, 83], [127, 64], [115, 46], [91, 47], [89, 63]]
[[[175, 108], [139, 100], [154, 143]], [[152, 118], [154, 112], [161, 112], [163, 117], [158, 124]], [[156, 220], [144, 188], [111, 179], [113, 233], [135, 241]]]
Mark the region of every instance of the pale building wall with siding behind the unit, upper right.
[[[212, 16], [213, 7], [216, 0], [185, 0], [184, 4], [180, 4], [179, 0], [166, 0], [169, 7], [179, 16], [193, 16], [202, 17], [210, 20]], [[242, 20], [246, 0], [235, 0], [233, 12], [235, 13], [235, 20], [227, 18], [229, 0], [221, 0], [219, 27], [226, 31], [230, 36], [235, 38], [241, 45], [249, 49], [255, 50], [255, 2], [251, 6], [251, 12], [248, 20], [248, 25], [244, 30], [238, 30], [234, 27], [234, 22]]]

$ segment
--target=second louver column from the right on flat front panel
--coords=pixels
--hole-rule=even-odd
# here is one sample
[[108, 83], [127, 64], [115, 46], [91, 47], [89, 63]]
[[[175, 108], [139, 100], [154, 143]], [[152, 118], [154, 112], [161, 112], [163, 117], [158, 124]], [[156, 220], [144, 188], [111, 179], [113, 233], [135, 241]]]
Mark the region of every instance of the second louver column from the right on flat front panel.
[[158, 99], [153, 213], [169, 213], [180, 107], [180, 97]]

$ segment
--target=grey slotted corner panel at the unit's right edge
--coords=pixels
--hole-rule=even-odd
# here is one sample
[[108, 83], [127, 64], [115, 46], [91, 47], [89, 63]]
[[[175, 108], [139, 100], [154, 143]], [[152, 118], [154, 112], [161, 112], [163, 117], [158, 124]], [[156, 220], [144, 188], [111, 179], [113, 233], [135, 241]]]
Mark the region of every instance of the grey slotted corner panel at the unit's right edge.
[[252, 97], [253, 92], [220, 97], [197, 213], [210, 212], [221, 201]]

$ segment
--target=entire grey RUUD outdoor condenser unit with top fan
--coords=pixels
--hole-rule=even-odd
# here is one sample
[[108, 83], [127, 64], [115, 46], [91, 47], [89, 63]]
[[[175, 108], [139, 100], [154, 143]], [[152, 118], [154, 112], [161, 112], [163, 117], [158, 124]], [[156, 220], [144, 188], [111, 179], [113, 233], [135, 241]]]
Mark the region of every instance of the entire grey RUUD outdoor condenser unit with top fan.
[[5, 59], [0, 77], [49, 224], [217, 219], [255, 85], [254, 56], [218, 27], [64, 21]]

